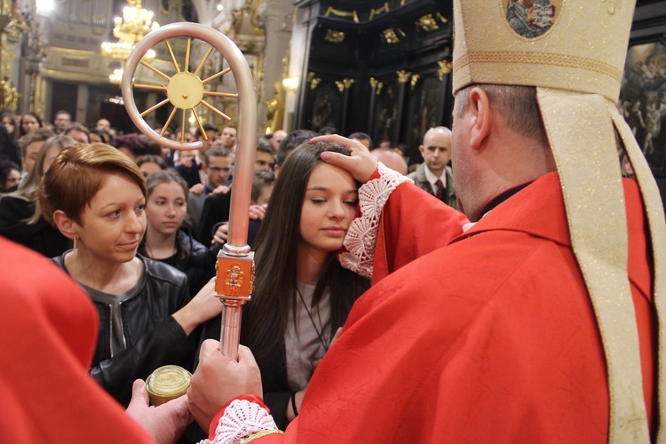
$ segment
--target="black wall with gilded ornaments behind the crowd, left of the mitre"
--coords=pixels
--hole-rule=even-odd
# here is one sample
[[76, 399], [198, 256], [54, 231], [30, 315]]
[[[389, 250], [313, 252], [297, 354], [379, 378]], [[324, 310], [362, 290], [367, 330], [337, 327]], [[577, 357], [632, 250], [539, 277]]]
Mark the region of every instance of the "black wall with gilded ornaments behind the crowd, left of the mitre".
[[[450, 78], [440, 62], [451, 60], [452, 2], [321, 0], [299, 7], [311, 9], [315, 23], [297, 126], [367, 132], [375, 146], [406, 144], [420, 160], [424, 131], [450, 125]], [[430, 27], [418, 23], [428, 16]]]

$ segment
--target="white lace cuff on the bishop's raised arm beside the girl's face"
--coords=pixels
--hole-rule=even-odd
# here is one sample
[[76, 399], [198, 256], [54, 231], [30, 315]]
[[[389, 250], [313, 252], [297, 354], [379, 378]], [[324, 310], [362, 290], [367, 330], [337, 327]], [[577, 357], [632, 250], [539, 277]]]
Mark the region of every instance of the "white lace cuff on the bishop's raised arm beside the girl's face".
[[391, 170], [384, 163], [378, 163], [379, 178], [369, 180], [359, 189], [361, 216], [355, 218], [347, 230], [344, 253], [340, 254], [340, 264], [361, 276], [372, 276], [372, 263], [375, 260], [377, 229], [384, 205], [389, 195], [400, 184], [414, 183], [410, 178]]

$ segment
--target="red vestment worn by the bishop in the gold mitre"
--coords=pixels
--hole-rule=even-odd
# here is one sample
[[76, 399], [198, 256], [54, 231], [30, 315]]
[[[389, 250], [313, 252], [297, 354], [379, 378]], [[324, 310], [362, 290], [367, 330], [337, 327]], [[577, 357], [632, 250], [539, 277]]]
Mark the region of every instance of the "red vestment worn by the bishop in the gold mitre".
[[[646, 234], [633, 181], [625, 181], [625, 193], [651, 417]], [[557, 174], [539, 178], [439, 250], [434, 244], [447, 222], [410, 221], [424, 202], [434, 204], [414, 186], [393, 192], [380, 229], [377, 284], [354, 305], [284, 437], [262, 442], [607, 442], [605, 359]], [[413, 240], [417, 246], [403, 244]]]

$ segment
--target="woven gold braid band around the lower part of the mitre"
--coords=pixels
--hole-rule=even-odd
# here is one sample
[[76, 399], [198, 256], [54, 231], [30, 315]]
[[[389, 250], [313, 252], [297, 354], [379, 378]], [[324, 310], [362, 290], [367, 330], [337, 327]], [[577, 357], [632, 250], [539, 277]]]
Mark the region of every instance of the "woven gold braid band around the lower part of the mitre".
[[553, 54], [549, 52], [467, 52], [454, 62], [454, 73], [471, 63], [516, 63], [529, 65], [551, 65], [555, 67], [577, 67], [587, 71], [608, 75], [618, 82], [622, 80], [622, 71], [595, 59], [573, 56], [569, 54]]

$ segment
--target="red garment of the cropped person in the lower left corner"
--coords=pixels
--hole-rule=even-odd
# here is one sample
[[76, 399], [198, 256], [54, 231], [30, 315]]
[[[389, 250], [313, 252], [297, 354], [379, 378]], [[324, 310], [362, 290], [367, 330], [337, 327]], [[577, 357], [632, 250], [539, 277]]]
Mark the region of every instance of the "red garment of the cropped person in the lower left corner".
[[153, 442], [88, 374], [89, 297], [58, 266], [0, 238], [0, 442]]

